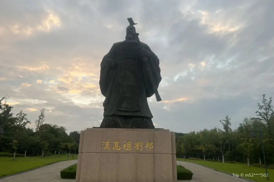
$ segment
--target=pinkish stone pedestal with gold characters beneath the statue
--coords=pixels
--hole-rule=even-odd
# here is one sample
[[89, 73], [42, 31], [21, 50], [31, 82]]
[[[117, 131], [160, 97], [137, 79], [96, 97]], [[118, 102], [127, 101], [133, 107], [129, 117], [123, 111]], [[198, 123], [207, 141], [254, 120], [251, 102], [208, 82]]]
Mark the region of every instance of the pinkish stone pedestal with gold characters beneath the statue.
[[157, 129], [81, 131], [76, 182], [177, 181], [175, 133]]

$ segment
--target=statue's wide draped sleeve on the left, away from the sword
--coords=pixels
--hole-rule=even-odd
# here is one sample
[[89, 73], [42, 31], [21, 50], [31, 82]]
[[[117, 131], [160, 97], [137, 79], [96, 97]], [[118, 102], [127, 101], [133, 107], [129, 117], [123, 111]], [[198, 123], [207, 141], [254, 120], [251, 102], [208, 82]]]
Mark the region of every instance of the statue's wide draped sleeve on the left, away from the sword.
[[110, 62], [115, 61], [115, 45], [113, 44], [110, 51], [104, 56], [101, 62], [100, 70], [100, 90], [103, 96], [107, 97], [109, 88], [111, 88], [111, 78], [114, 75], [114, 69], [110, 68]]

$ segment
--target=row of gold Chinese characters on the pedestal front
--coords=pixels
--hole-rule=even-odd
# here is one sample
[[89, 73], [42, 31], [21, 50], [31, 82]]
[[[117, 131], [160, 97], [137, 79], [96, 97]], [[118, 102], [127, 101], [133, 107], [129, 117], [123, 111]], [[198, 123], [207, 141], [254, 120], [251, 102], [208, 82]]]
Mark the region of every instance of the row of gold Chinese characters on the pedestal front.
[[[112, 148], [112, 150], [118, 150], [120, 151], [121, 149], [123, 150], [140, 150], [142, 151], [143, 150], [143, 142], [135, 142], [135, 145], [133, 147], [133, 145], [131, 145], [131, 142], [129, 141], [124, 141], [124, 144], [123, 144], [123, 148], [121, 147], [120, 145], [120, 142], [119, 141], [114, 141], [112, 143], [113, 145], [111, 145], [111, 143], [109, 141], [105, 141], [105, 142], [102, 142], [102, 149], [103, 150], [110, 150]], [[134, 144], [134, 143], [133, 143]], [[146, 150], [151, 150], [153, 149], [153, 142], [146, 142], [144, 143], [145, 144], [145, 149]], [[110, 146], [111, 145], [111, 146]]]

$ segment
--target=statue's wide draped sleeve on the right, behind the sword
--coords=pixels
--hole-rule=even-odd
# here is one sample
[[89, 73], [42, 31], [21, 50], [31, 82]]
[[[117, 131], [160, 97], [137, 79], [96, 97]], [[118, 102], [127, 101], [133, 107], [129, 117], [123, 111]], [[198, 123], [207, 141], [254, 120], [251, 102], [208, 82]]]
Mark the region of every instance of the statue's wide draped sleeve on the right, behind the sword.
[[[149, 56], [149, 66], [150, 66], [150, 70], [152, 72], [153, 75], [153, 79], [156, 83], [156, 87], [158, 88], [162, 77], [161, 77], [161, 69], [160, 69], [160, 61], [158, 59], [158, 57], [156, 56], [156, 54], [149, 48], [148, 45], [142, 43], [144, 45], [144, 48], [150, 52], [150, 56]], [[144, 63], [143, 63], [143, 75], [144, 75], [144, 85], [145, 85], [145, 89], [146, 89], [146, 97], [151, 97], [153, 96], [153, 94], [155, 93], [153, 90], [153, 86], [152, 83], [150, 81], [149, 78], [149, 74], [147, 71], [147, 68], [145, 67]]]

